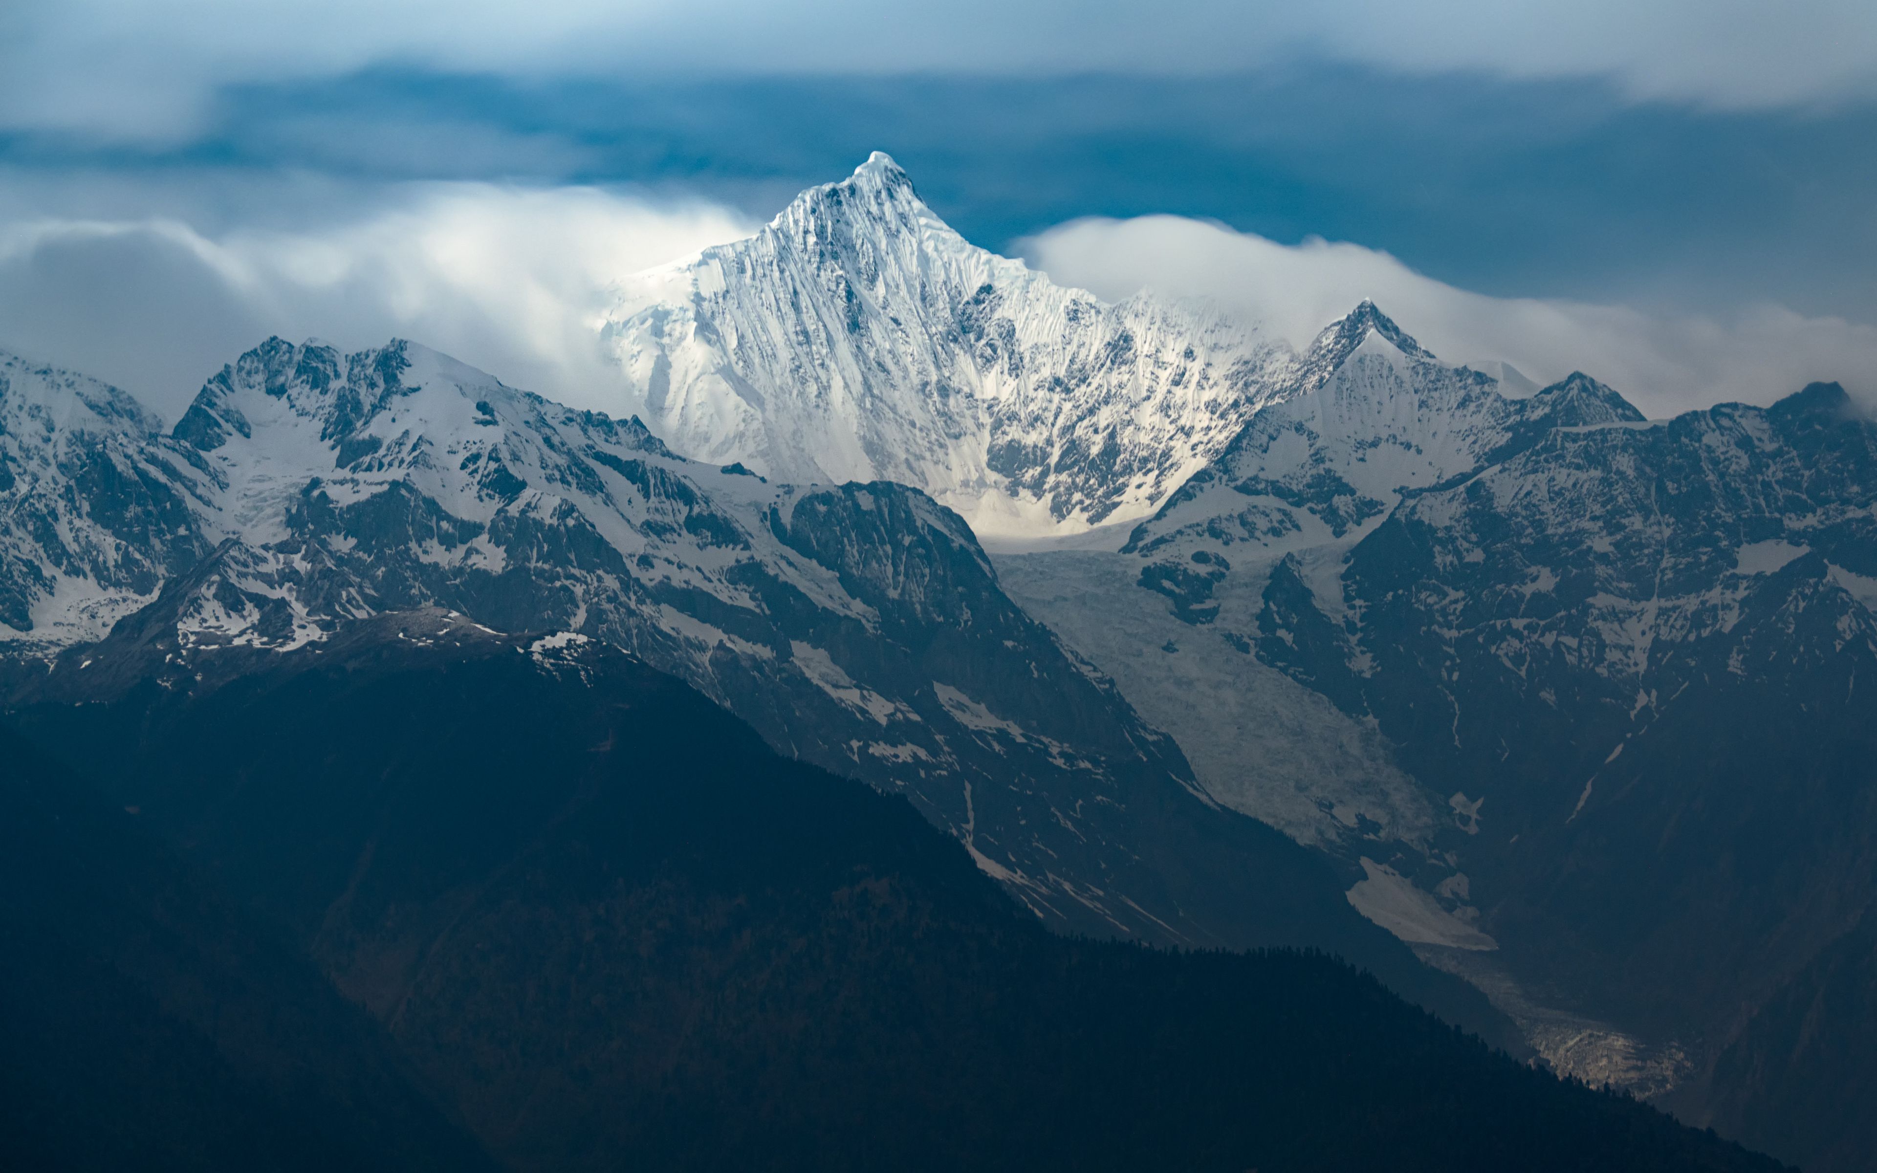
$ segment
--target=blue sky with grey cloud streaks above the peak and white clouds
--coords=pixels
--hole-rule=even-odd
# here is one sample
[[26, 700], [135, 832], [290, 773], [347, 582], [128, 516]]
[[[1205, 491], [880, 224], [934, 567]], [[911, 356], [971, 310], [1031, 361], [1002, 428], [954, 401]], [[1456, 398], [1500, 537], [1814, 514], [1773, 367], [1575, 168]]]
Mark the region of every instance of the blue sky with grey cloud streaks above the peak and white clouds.
[[[96, 349], [133, 390], [161, 368], [156, 398], [175, 398], [242, 330], [375, 325], [325, 328], [317, 300], [248, 312], [268, 298], [227, 285], [261, 278], [184, 253], [343, 233], [426, 182], [708, 203], [726, 231], [873, 148], [1004, 251], [1085, 216], [1175, 214], [1286, 246], [1353, 242], [1494, 298], [1721, 332], [1768, 308], [1841, 319], [1854, 338], [1834, 360], [1853, 368], [1856, 328], [1877, 323], [1877, 6], [1783, 6], [1768, 24], [1768, 6], [1727, 0], [1517, 19], [1458, 0], [1310, 17], [1194, 0], [1160, 19], [1021, 2], [349, 4], [21, 0], [0, 15], [0, 233], [15, 227], [0, 345], [62, 362]], [[19, 225], [53, 220], [64, 235], [19, 244]], [[143, 231], [158, 221], [186, 231]], [[670, 248], [710, 236], [657, 223]], [[150, 306], [165, 283], [180, 293]], [[182, 319], [203, 323], [193, 338]]]

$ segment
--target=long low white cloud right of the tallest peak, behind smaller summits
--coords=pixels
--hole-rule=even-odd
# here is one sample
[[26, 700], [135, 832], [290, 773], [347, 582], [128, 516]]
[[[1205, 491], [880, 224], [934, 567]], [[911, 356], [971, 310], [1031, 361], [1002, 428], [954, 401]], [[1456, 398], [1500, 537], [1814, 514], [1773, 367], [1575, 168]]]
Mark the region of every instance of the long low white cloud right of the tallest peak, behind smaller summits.
[[1719, 319], [1496, 298], [1357, 244], [1286, 246], [1179, 216], [1077, 220], [1023, 242], [1023, 253], [1107, 300], [1143, 287], [1214, 298], [1291, 345], [1372, 298], [1447, 362], [1511, 362], [1541, 385], [1582, 370], [1652, 417], [1770, 404], [1811, 381], [1877, 394], [1877, 328], [1770, 304]]

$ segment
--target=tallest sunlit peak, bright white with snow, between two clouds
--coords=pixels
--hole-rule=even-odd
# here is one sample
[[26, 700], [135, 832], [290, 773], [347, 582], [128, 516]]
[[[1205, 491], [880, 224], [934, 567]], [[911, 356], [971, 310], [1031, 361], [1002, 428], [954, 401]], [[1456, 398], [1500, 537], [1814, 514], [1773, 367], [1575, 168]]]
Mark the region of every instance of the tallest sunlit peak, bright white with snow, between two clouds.
[[1299, 377], [1205, 306], [1109, 306], [974, 248], [884, 154], [629, 280], [604, 338], [672, 449], [912, 484], [987, 537], [1149, 514]]

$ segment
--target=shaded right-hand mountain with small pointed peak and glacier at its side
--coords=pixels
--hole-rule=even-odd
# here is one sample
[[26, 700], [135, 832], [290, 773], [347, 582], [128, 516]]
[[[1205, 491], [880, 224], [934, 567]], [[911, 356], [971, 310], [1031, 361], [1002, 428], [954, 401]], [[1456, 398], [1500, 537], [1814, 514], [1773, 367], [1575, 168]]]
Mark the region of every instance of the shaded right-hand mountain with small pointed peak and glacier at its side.
[[1547, 1059], [1704, 1115], [1877, 897], [1877, 426], [1830, 385], [1646, 422], [1355, 332], [1121, 554], [1000, 582]]

